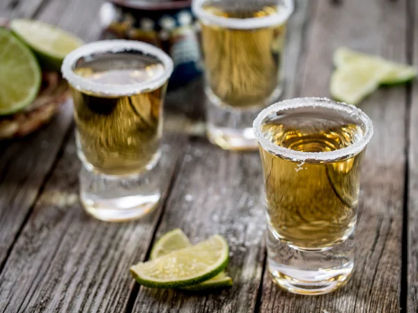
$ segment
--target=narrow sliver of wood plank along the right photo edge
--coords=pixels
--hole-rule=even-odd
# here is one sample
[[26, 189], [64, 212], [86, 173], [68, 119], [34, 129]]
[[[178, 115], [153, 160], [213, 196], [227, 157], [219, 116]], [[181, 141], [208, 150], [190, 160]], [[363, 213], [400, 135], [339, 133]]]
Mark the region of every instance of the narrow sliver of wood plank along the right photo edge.
[[[410, 45], [412, 64], [418, 67], [418, 4], [410, 1], [410, 10], [415, 22], [411, 26], [411, 35], [414, 36], [413, 45]], [[415, 31], [414, 31], [415, 30]], [[418, 84], [412, 86], [410, 99], [411, 113], [409, 124], [409, 166], [408, 166], [408, 312], [418, 312]], [[407, 312], [405, 310], [405, 312]]]

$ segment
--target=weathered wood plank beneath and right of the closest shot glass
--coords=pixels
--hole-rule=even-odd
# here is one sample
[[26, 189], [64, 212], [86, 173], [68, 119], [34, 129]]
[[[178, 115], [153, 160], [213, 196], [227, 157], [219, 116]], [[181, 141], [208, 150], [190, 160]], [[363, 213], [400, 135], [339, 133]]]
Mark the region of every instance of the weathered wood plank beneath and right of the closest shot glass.
[[[405, 0], [318, 1], [309, 31], [301, 96], [328, 95], [336, 47], [405, 61]], [[327, 296], [295, 296], [263, 280], [261, 312], [399, 312], [405, 170], [405, 88], [379, 90], [360, 107], [375, 134], [362, 173], [356, 268], [351, 281]]]

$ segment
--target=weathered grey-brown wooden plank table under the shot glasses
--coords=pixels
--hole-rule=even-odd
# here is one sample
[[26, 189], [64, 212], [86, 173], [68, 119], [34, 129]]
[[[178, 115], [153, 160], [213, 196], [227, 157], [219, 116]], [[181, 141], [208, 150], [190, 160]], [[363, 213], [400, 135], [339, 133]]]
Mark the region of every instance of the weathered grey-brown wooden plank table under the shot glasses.
[[[44, 20], [91, 41], [100, 33], [100, 5], [1, 0], [0, 17]], [[418, 3], [297, 1], [285, 97], [327, 96], [332, 53], [341, 45], [418, 67]], [[167, 106], [196, 115], [199, 90], [195, 82], [171, 93]], [[418, 85], [381, 88], [361, 108], [375, 135], [362, 173], [357, 266], [343, 289], [309, 297], [280, 291], [268, 277], [257, 152], [226, 152], [171, 132], [160, 207], [144, 220], [102, 223], [77, 198], [69, 102], [37, 134], [0, 143], [0, 312], [418, 312]], [[175, 227], [194, 241], [226, 236], [231, 289], [195, 295], [134, 282], [129, 266]]]

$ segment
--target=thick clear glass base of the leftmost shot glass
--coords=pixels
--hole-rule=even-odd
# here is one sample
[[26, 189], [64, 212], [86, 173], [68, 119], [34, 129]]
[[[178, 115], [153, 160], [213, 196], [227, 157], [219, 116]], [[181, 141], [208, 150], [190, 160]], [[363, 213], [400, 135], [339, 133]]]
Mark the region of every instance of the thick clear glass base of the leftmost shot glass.
[[141, 175], [115, 177], [80, 172], [80, 200], [91, 216], [107, 222], [123, 222], [145, 216], [161, 198], [159, 164]]

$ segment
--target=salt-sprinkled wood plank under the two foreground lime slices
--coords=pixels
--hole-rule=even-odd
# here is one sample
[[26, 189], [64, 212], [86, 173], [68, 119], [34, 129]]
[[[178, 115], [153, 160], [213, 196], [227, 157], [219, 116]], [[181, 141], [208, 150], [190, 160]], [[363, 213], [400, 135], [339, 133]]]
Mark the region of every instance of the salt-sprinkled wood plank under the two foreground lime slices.
[[[288, 93], [297, 79], [301, 33], [311, 6], [309, 1], [297, 3], [288, 27]], [[176, 227], [194, 242], [216, 233], [225, 236], [233, 287], [199, 295], [141, 287], [132, 312], [254, 312], [264, 259], [262, 186], [258, 152], [226, 152], [203, 139], [190, 143], [157, 236]]]

